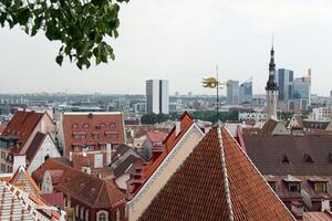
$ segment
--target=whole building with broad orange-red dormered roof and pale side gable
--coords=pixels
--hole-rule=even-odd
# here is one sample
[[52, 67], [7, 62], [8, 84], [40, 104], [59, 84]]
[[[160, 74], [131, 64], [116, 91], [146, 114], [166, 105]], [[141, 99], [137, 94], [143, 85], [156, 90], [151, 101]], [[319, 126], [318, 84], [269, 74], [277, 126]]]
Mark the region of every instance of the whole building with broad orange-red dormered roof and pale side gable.
[[124, 119], [120, 112], [65, 112], [59, 125], [59, 140], [68, 159], [71, 152], [103, 151], [110, 144], [125, 143]]

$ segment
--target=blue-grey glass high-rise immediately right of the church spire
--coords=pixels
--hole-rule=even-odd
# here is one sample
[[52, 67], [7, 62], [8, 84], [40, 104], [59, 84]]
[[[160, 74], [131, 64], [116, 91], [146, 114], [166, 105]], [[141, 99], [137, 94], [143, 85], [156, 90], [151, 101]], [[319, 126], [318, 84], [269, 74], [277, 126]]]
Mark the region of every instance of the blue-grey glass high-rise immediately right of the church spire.
[[293, 94], [294, 72], [286, 69], [278, 69], [276, 80], [279, 86], [278, 99], [291, 99]]

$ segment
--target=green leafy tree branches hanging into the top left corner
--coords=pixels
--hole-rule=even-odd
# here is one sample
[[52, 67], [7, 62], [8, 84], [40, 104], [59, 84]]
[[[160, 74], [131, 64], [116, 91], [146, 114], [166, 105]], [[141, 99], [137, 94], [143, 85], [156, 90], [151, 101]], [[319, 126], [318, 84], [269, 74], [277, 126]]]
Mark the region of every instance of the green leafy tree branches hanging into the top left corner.
[[50, 41], [60, 41], [55, 61], [62, 64], [64, 56], [82, 70], [114, 60], [106, 38], [117, 38], [120, 25], [118, 2], [128, 0], [1, 0], [0, 27], [20, 25], [34, 36], [44, 31]]

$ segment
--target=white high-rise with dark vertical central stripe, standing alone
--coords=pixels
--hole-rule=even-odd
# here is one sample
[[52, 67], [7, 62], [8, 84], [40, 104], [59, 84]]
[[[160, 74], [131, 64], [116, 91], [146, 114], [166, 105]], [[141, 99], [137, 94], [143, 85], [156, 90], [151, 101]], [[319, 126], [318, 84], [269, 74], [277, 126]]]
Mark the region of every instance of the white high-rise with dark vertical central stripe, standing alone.
[[168, 80], [146, 81], [146, 113], [169, 114]]

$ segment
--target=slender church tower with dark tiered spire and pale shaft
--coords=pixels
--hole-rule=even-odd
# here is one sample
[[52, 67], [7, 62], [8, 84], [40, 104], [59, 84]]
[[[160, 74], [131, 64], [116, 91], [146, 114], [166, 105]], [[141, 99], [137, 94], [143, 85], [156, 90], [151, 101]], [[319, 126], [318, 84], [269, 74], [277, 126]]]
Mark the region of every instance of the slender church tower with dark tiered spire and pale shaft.
[[276, 63], [273, 43], [270, 54], [269, 81], [267, 82], [267, 119], [277, 119], [278, 84], [276, 80]]

